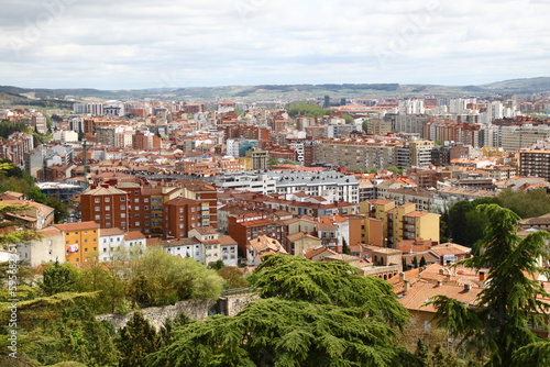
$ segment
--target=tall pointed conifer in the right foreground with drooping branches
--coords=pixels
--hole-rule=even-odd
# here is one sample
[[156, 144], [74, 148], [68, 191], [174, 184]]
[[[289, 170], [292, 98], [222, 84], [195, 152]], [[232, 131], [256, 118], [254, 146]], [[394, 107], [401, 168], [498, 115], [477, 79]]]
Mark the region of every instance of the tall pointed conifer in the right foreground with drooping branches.
[[462, 344], [480, 357], [486, 356], [486, 366], [512, 366], [515, 352], [538, 340], [527, 324], [543, 324], [550, 308], [538, 298], [550, 294], [535, 277], [543, 271], [538, 262], [546, 264], [550, 258], [544, 249], [550, 235], [539, 231], [521, 238], [515, 226], [520, 218], [512, 210], [497, 204], [482, 204], [477, 210], [490, 220], [480, 241], [480, 255], [457, 265], [488, 267], [487, 287], [474, 308], [443, 296], [429, 303], [437, 310], [439, 325], [462, 337]]

